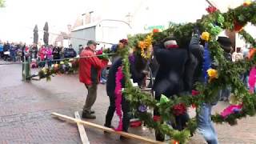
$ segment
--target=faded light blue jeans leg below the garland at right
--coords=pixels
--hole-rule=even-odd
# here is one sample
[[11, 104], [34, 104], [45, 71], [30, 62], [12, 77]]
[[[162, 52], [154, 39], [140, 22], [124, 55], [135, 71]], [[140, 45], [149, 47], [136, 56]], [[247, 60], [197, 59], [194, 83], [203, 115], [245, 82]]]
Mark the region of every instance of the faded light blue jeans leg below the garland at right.
[[211, 109], [214, 105], [203, 103], [198, 114], [198, 131], [208, 144], [218, 144], [217, 134], [211, 122]]

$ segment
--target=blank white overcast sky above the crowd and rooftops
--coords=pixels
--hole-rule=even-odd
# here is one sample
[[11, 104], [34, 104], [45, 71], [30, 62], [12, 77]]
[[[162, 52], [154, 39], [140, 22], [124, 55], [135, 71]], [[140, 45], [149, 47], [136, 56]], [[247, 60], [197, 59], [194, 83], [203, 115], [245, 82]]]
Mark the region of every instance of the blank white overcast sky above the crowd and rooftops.
[[[219, 8], [243, 0], [213, 0]], [[234, 1], [234, 0], [233, 0]], [[134, 30], [147, 25], [164, 25], [172, 22], [195, 22], [206, 14], [205, 0], [6, 0], [0, 9], [0, 39], [32, 41], [33, 28], [42, 30], [47, 21], [50, 32], [66, 30], [79, 15], [93, 10], [102, 18], [123, 19], [130, 13]]]

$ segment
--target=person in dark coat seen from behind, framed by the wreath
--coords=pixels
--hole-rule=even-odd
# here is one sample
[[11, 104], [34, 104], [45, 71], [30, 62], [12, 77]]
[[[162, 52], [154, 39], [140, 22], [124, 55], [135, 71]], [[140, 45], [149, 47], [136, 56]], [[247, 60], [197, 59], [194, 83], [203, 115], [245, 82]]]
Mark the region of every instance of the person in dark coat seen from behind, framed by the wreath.
[[[197, 61], [187, 48], [180, 48], [174, 38], [166, 38], [162, 43], [154, 46], [154, 55], [159, 69], [154, 81], [156, 100], [161, 94], [172, 98], [174, 95], [191, 94], [194, 69]], [[159, 115], [154, 110], [154, 115]], [[175, 130], [183, 130], [188, 121], [188, 114], [175, 116], [176, 124], [171, 122]], [[164, 141], [164, 135], [156, 130], [156, 139]]]

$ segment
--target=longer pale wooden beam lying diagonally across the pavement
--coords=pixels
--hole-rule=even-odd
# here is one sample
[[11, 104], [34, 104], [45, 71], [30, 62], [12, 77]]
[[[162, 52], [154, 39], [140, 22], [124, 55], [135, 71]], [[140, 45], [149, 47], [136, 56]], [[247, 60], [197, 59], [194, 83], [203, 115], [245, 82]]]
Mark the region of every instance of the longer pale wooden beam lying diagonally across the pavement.
[[100, 125], [97, 125], [97, 124], [92, 123], [92, 122], [86, 122], [86, 121], [78, 120], [76, 118], [71, 118], [71, 117], [63, 115], [63, 114], [52, 113], [51, 115], [56, 117], [56, 118], [60, 118], [62, 120], [65, 120], [66, 122], [80, 123], [84, 126], [89, 126], [89, 127], [92, 127], [92, 128], [96, 128], [98, 130], [104, 130], [106, 132], [113, 133], [113, 134], [119, 134], [119, 135], [122, 135], [123, 137], [133, 138], [133, 139], [141, 141], [141, 142], [164, 143], [164, 142], [155, 141], [151, 138], [145, 138], [145, 137], [142, 137], [142, 136], [139, 136], [139, 135], [136, 135], [136, 134], [130, 134], [130, 133], [126, 133], [126, 132], [123, 132], [123, 131], [115, 131], [115, 130], [113, 130], [111, 128], [108, 128], [108, 127], [105, 127], [105, 126], [100, 126]]

